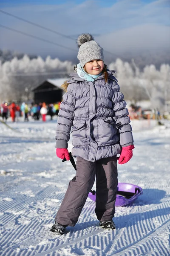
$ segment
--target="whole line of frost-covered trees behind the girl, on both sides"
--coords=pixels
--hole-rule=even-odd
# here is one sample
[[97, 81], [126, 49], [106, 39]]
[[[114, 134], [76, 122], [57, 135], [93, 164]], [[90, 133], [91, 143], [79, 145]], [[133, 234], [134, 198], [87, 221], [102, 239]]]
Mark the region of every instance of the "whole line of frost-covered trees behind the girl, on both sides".
[[[8, 55], [9, 52], [6, 52]], [[154, 65], [147, 65], [141, 71], [134, 60], [131, 63], [117, 58], [108, 68], [116, 70], [121, 90], [126, 100], [132, 103], [149, 99], [153, 108], [164, 109], [164, 102], [170, 100], [170, 66], [162, 64], [157, 70]], [[28, 55], [22, 58], [12, 58], [4, 63], [0, 61], [0, 101], [28, 101], [32, 89], [49, 78], [57, 78], [73, 72], [70, 61], [60, 61], [58, 58], [45, 60], [41, 57], [30, 59]]]

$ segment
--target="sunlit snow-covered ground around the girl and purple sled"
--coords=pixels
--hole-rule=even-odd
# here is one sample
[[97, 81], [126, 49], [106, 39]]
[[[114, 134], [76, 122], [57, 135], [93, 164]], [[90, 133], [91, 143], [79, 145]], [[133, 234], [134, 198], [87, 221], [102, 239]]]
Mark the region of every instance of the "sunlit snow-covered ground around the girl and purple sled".
[[143, 195], [116, 207], [116, 230], [98, 226], [88, 198], [63, 236], [50, 228], [75, 171], [55, 155], [56, 120], [8, 124], [16, 130], [0, 123], [1, 256], [170, 255], [170, 124], [132, 122], [135, 149], [118, 165], [119, 182], [141, 186]]

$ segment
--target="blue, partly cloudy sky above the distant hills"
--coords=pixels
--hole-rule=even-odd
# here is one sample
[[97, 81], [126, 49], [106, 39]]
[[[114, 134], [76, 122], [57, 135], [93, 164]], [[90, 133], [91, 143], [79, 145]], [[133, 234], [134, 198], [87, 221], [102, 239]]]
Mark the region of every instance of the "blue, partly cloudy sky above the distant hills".
[[170, 0], [1, 0], [0, 10], [9, 14], [0, 12], [0, 49], [43, 58], [76, 57], [76, 38], [85, 32], [94, 35], [105, 54], [170, 45]]

